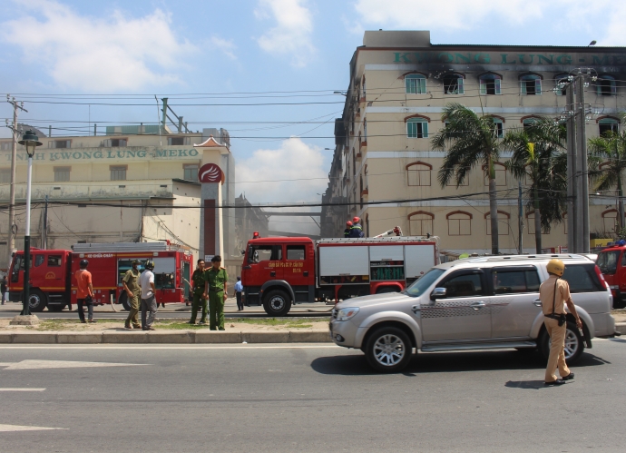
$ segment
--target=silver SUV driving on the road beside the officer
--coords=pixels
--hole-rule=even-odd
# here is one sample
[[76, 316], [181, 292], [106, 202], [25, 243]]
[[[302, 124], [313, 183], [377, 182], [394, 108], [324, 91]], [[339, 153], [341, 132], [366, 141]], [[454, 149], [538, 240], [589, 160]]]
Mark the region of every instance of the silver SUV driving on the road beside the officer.
[[[611, 336], [612, 296], [602, 272], [582, 255], [520, 255], [453, 261], [435, 266], [401, 293], [375, 294], [337, 303], [330, 336], [339, 346], [365, 352], [379, 371], [404, 369], [413, 348], [447, 350], [539, 349], [547, 358], [539, 285], [546, 264], [565, 263], [563, 280], [592, 337]], [[568, 314], [565, 355], [578, 359], [583, 341]]]

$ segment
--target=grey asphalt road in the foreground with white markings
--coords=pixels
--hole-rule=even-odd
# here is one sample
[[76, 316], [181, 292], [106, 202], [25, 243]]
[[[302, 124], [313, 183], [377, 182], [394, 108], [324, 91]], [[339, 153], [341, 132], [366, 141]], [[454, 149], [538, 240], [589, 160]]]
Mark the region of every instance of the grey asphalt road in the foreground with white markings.
[[560, 388], [514, 350], [377, 375], [333, 345], [0, 345], [0, 451], [623, 451], [625, 343]]

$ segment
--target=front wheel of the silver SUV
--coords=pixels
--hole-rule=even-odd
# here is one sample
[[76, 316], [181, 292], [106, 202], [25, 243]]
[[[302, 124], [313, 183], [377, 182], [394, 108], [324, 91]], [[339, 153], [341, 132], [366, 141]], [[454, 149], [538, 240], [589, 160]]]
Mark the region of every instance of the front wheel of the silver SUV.
[[403, 330], [381, 327], [367, 335], [365, 347], [367, 363], [383, 373], [396, 373], [411, 361], [411, 340]]

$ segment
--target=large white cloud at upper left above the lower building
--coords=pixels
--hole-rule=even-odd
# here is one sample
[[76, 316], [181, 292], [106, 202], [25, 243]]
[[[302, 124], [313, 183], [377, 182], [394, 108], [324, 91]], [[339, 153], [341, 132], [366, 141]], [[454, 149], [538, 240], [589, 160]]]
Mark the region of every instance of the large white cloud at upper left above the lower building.
[[[54, 0], [22, 0], [28, 13], [2, 24], [6, 43], [22, 47], [24, 61], [37, 64], [59, 85], [115, 91], [180, 82], [174, 68], [195, 47], [171, 29], [171, 16], [106, 18], [79, 15]], [[178, 71], [176, 71], [178, 72]]]

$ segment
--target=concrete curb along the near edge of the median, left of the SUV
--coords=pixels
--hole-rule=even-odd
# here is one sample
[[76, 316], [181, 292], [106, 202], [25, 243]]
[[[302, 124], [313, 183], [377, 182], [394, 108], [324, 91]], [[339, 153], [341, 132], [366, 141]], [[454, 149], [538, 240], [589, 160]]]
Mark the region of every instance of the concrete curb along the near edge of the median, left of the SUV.
[[[626, 325], [625, 325], [626, 326]], [[328, 330], [0, 331], [0, 344], [331, 343]]]

